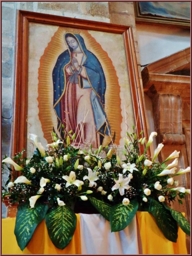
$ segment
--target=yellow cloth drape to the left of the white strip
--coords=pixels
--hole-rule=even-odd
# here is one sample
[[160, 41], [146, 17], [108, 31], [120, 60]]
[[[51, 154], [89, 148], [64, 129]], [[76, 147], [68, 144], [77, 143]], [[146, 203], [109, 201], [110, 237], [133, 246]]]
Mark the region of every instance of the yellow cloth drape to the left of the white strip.
[[28, 246], [21, 251], [14, 234], [16, 218], [2, 219], [2, 254], [81, 254], [80, 215], [77, 216], [77, 225], [71, 242], [63, 250], [56, 248], [49, 238], [43, 220], [36, 228]]

